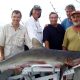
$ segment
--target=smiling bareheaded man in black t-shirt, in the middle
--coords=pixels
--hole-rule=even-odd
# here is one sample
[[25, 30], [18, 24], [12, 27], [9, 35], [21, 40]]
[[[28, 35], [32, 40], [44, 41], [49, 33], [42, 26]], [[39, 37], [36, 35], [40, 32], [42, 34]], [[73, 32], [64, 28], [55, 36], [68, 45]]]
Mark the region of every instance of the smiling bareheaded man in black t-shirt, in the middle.
[[46, 48], [62, 49], [62, 42], [64, 37], [64, 29], [57, 23], [58, 15], [51, 12], [49, 15], [50, 24], [43, 30], [43, 42]]

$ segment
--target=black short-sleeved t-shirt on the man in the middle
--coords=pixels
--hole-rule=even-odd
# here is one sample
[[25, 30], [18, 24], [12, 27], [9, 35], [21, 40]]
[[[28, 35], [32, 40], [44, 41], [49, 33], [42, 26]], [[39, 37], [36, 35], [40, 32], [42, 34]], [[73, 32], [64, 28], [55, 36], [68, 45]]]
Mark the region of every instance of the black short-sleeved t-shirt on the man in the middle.
[[43, 42], [48, 41], [50, 49], [62, 49], [64, 29], [60, 24], [57, 27], [49, 24], [43, 30]]

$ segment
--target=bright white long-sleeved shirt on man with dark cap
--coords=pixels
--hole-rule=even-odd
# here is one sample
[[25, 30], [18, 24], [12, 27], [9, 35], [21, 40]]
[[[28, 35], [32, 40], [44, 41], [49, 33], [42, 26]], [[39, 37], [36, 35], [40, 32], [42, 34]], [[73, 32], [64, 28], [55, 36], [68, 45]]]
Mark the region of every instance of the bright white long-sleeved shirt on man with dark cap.
[[28, 35], [31, 41], [33, 38], [36, 38], [42, 44], [43, 30], [39, 24], [39, 21], [36, 21], [33, 16], [31, 16], [25, 26], [27, 27]]

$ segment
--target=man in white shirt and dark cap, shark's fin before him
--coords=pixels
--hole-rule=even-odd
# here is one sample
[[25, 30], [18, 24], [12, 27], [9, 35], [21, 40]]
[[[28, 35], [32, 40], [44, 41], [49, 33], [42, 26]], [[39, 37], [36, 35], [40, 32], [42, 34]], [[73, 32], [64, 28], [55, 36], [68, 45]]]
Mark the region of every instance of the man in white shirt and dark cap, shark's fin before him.
[[40, 17], [41, 17], [41, 8], [38, 5], [34, 5], [32, 10], [30, 11], [30, 18], [25, 24], [33, 47], [40, 47], [42, 45], [43, 33], [42, 33], [42, 27], [40, 26], [38, 20]]

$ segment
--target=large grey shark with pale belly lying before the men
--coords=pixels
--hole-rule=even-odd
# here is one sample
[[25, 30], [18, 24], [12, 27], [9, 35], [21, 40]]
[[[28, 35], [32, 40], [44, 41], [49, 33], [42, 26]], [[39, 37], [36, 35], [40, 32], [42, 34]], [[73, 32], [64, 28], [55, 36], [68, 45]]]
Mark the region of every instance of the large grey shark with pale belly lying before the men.
[[0, 70], [15, 68], [29, 61], [45, 61], [49, 64], [64, 64], [66, 58], [80, 58], [80, 52], [53, 50], [46, 48], [30, 49], [25, 52], [18, 53], [6, 60], [0, 62]]

